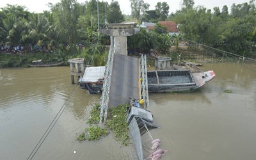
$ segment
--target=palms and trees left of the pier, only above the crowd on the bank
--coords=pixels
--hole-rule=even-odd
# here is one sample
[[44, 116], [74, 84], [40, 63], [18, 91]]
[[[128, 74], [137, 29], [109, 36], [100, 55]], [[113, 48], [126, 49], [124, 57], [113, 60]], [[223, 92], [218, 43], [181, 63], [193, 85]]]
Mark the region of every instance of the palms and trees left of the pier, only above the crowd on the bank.
[[[10, 5], [0, 11], [0, 44], [74, 47], [86, 42], [84, 35], [97, 29], [97, 1], [77, 3], [76, 0], [61, 0], [48, 4], [51, 12], [30, 13], [25, 6]], [[124, 16], [117, 1], [99, 2], [100, 27], [108, 22], [122, 22]], [[87, 28], [90, 28], [89, 30]]]

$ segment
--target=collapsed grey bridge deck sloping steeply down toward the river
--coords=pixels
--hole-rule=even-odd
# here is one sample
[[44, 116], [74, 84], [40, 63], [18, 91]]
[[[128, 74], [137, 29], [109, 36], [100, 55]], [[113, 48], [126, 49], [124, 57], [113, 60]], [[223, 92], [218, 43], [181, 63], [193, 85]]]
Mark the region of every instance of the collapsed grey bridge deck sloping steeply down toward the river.
[[108, 108], [139, 99], [140, 59], [114, 54]]

